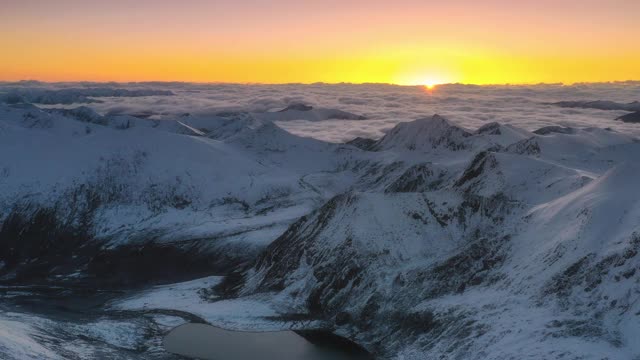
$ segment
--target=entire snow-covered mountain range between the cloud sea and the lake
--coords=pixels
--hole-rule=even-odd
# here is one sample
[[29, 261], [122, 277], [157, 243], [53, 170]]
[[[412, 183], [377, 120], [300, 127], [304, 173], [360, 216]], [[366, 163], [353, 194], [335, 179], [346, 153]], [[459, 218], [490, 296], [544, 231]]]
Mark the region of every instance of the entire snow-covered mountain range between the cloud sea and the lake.
[[[335, 144], [273, 122], [330, 118], [314, 110], [0, 105], [3, 282], [227, 275], [113, 309], [239, 329], [305, 319], [382, 359], [640, 357], [636, 138], [434, 115]], [[45, 323], [0, 316], [0, 351], [63, 351], [20, 321]]]

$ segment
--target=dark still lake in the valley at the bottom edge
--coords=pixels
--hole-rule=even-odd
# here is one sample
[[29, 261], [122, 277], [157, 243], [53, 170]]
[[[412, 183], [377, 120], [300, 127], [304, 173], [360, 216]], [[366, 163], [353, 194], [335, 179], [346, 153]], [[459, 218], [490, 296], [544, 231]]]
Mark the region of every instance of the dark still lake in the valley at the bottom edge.
[[206, 360], [370, 360], [357, 345], [334, 335], [294, 331], [241, 332], [185, 324], [164, 338], [167, 351]]

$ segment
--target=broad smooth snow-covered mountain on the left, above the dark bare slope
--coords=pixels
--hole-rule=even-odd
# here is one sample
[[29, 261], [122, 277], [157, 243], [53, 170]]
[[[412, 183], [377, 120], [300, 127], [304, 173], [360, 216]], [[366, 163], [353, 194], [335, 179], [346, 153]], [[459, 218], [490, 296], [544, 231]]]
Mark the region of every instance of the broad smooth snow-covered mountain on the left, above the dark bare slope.
[[[189, 253], [195, 248], [200, 258], [207, 252], [207, 264], [226, 266], [251, 258], [348, 183], [341, 164], [357, 149], [300, 138], [269, 121], [229, 122], [3, 105], [2, 236], [25, 252], [5, 244], [6, 279], [19, 276], [20, 261], [41, 247], [36, 229], [15, 238], [11, 226], [42, 217], [64, 224], [62, 238], [81, 233], [83, 244], [172, 243]], [[58, 249], [57, 241], [50, 246], [50, 255], [75, 254], [80, 247]], [[50, 267], [59, 266], [59, 260], [48, 260]], [[40, 276], [76, 274], [86, 265]]]

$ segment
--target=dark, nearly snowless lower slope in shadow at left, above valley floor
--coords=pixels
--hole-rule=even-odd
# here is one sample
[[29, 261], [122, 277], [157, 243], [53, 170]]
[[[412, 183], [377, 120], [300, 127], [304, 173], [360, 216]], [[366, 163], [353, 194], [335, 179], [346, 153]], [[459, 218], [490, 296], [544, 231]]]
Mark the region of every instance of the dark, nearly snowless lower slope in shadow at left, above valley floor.
[[147, 234], [149, 240], [113, 246], [94, 237], [88, 214], [80, 217], [87, 220], [56, 208], [14, 209], [0, 227], [2, 282], [137, 287], [221, 274], [242, 263], [210, 250], [210, 239], [163, 244]]

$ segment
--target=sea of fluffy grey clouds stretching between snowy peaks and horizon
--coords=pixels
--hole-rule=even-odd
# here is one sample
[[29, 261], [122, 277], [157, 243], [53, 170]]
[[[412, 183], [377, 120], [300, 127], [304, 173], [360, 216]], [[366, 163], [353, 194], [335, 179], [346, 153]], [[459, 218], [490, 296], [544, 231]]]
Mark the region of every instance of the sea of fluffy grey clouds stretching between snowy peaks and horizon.
[[[308, 137], [344, 142], [355, 137], [378, 138], [399, 122], [440, 114], [460, 126], [476, 129], [489, 122], [513, 124], [529, 130], [548, 125], [611, 127], [640, 136], [640, 124], [615, 119], [626, 111], [562, 108], [553, 102], [580, 100], [640, 100], [640, 82], [541, 85], [387, 84], [192, 84], [192, 83], [0, 83], [0, 94], [15, 91], [94, 89], [169, 90], [172, 96], [100, 97], [88, 103], [103, 114], [147, 114], [171, 118], [179, 114], [212, 115], [221, 111], [263, 112], [305, 103], [340, 109], [367, 120], [280, 121], [286, 130]], [[81, 104], [64, 105], [75, 107]], [[63, 105], [48, 105], [61, 107]]]

